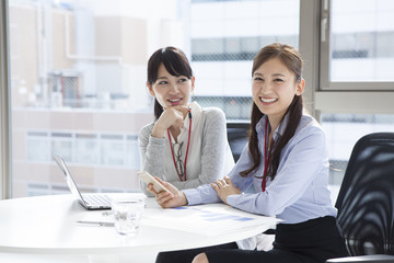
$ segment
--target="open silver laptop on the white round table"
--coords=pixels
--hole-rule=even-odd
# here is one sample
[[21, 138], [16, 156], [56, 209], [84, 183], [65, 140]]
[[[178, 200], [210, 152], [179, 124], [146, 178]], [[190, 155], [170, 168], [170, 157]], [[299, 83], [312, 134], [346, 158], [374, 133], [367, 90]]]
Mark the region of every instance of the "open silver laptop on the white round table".
[[65, 174], [67, 185], [69, 186], [72, 195], [84, 208], [89, 210], [111, 209], [111, 198], [105, 194], [81, 194], [74, 180], [71, 176], [70, 170], [66, 165], [65, 160], [56, 153], [53, 153], [53, 157]]

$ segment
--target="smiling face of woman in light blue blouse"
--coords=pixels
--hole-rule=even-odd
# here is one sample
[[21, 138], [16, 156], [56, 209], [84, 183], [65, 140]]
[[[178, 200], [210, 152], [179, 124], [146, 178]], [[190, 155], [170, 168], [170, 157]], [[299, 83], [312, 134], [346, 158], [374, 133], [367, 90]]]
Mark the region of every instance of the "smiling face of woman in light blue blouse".
[[271, 119], [280, 121], [294, 95], [301, 95], [304, 80], [296, 80], [279, 58], [271, 58], [253, 72], [252, 94], [258, 110]]

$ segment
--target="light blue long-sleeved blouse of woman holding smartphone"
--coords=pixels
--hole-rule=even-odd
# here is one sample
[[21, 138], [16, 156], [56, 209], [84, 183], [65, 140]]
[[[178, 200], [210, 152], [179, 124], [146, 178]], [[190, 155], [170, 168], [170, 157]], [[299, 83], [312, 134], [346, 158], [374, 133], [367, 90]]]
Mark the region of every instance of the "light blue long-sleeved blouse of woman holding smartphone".
[[[256, 125], [262, 153], [262, 162], [255, 173], [257, 176], [262, 176], [264, 172], [266, 122], [267, 116], [263, 116]], [[288, 122], [286, 116], [277, 127], [274, 133], [275, 141], [282, 136]], [[253, 214], [276, 216], [285, 224], [297, 224], [324, 216], [336, 217], [337, 210], [332, 205], [328, 190], [325, 134], [313, 117], [302, 115], [296, 134], [281, 151], [275, 179], [267, 179], [265, 192], [262, 192], [262, 179], [253, 174], [247, 178], [240, 175], [240, 172], [251, 167], [252, 158], [246, 146], [229, 174], [234, 185], [243, 192], [228, 197], [231, 206]], [[256, 193], [244, 193], [252, 185]], [[220, 202], [209, 184], [183, 192], [189, 205]]]

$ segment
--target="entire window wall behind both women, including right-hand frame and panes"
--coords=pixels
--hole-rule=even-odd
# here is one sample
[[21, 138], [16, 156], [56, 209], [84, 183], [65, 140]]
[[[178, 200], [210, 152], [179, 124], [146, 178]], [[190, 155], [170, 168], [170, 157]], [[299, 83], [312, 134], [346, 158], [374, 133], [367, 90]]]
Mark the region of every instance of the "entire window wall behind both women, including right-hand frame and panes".
[[[192, 61], [194, 100], [223, 108], [229, 119], [250, 117], [253, 55], [277, 41], [300, 47], [305, 93], [313, 91], [305, 101], [327, 133], [334, 188], [363, 133], [394, 130], [389, 0], [9, 0], [4, 7], [10, 72], [3, 57], [0, 72], [10, 78], [13, 197], [67, 190], [51, 151], [85, 190], [139, 191], [137, 138], [153, 119], [146, 65], [167, 45]], [[3, 31], [1, 37], [3, 50]]]

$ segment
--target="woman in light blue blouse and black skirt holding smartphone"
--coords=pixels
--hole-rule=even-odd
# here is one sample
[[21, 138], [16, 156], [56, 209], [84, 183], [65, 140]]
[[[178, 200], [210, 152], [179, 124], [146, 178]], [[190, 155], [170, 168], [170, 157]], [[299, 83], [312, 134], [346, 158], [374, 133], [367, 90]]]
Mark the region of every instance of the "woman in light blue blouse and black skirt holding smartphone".
[[[347, 255], [328, 185], [325, 134], [304, 113], [302, 58], [275, 43], [255, 57], [252, 69], [251, 136], [229, 176], [174, 196], [155, 193], [162, 207], [224, 202], [239, 209], [276, 216], [270, 251], [207, 250], [193, 262], [325, 262]], [[243, 194], [250, 186], [255, 194]], [[151, 190], [151, 185], [148, 186]]]

